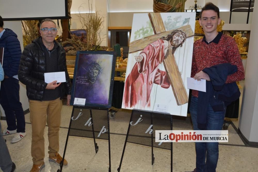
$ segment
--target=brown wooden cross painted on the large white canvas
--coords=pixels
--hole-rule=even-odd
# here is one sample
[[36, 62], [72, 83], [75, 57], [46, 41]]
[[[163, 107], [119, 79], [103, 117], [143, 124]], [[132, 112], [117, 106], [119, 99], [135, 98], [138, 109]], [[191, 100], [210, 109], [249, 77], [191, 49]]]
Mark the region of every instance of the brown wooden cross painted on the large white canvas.
[[[155, 35], [146, 38], [138, 39], [130, 43], [129, 53], [134, 53], [143, 50], [148, 44], [160, 39], [163, 36], [169, 35], [173, 30], [166, 31], [160, 13], [149, 13], [149, 18]], [[194, 36], [190, 25], [180, 27], [175, 30], [182, 30], [186, 33], [187, 38]], [[176, 64], [175, 57], [172, 50], [168, 50], [169, 55], [163, 61], [165, 70], [169, 76], [170, 84], [178, 105], [188, 103], [188, 94], [184, 87], [178, 65]]]

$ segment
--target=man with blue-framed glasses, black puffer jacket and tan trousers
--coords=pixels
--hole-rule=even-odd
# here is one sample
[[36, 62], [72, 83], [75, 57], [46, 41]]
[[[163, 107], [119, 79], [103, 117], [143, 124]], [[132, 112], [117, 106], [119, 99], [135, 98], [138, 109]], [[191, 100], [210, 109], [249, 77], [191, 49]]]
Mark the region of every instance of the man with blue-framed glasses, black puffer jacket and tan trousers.
[[[26, 85], [30, 105], [32, 127], [31, 171], [40, 171], [44, 166], [44, 128], [47, 123], [49, 139], [49, 161], [59, 164], [59, 127], [61, 119], [62, 97], [67, 93], [67, 105], [71, 99], [71, 81], [66, 67], [64, 48], [55, 41], [56, 24], [45, 19], [40, 24], [41, 37], [27, 45], [21, 56], [18, 76]], [[65, 72], [66, 82], [44, 81], [46, 72]], [[64, 160], [63, 165], [67, 165]]]

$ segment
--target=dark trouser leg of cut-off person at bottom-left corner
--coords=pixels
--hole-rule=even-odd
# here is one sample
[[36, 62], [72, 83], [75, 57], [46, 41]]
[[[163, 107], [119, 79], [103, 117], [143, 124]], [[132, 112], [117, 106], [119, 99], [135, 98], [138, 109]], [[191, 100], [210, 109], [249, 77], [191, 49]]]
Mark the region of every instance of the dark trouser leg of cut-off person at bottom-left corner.
[[7, 149], [5, 140], [3, 138], [2, 130], [1, 130], [1, 122], [0, 122], [0, 168], [4, 172], [9, 172], [12, 170], [12, 159], [10, 157], [9, 151]]

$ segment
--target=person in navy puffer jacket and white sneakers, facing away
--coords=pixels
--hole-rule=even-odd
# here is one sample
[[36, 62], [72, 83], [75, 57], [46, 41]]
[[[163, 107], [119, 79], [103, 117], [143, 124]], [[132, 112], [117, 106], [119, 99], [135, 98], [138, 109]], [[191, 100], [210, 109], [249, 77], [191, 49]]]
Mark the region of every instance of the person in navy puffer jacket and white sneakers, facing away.
[[18, 80], [21, 46], [17, 35], [11, 29], [3, 28], [3, 26], [4, 21], [0, 16], [0, 47], [4, 47], [3, 69], [5, 74], [1, 83], [0, 104], [4, 109], [7, 122], [7, 128], [3, 130], [3, 135], [15, 134], [11, 143], [16, 143], [26, 136]]

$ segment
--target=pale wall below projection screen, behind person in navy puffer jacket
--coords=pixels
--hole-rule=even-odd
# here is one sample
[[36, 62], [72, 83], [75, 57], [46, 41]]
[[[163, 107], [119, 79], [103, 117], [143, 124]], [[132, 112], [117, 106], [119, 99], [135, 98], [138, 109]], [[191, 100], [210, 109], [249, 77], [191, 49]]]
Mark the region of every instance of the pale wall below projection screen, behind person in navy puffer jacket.
[[[12, 29], [17, 34], [21, 44], [21, 51], [23, 51], [21, 21], [4, 21], [4, 28]], [[20, 102], [22, 104], [23, 110], [27, 110], [29, 109], [29, 101], [26, 95], [26, 86], [20, 82], [19, 84], [20, 84]], [[1, 106], [1, 113], [2, 113], [2, 116], [5, 116], [2, 106]]]

